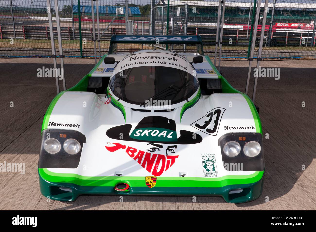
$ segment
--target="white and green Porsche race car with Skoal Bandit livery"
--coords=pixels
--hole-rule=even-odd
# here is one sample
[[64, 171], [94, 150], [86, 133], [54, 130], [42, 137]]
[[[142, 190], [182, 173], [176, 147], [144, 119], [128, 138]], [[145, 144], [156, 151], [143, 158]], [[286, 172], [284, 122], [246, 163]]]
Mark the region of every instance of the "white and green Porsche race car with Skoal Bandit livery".
[[38, 171], [41, 193], [60, 201], [82, 194], [251, 201], [263, 187], [261, 123], [250, 98], [204, 55], [199, 35], [113, 35], [108, 54], [49, 105]]

